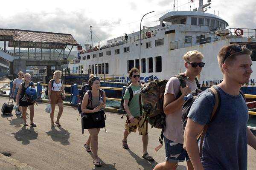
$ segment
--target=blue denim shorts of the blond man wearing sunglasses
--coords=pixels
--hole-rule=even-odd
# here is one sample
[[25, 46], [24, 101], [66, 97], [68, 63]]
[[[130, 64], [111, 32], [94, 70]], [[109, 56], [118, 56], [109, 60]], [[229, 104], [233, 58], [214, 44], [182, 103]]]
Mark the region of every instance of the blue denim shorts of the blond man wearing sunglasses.
[[189, 155], [186, 150], [183, 149], [183, 144], [173, 142], [164, 137], [164, 144], [166, 149], [166, 161], [170, 163], [177, 163], [189, 161]]

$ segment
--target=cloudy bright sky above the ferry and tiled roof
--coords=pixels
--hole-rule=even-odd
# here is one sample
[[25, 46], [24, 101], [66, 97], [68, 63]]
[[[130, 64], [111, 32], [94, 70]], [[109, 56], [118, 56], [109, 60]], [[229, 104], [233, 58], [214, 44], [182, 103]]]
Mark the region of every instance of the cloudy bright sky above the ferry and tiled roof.
[[[199, 0], [175, 0], [175, 11], [198, 8]], [[242, 2], [242, 3], [241, 3]], [[204, 4], [207, 0], [204, 0]], [[211, 0], [207, 13], [219, 15], [228, 28], [256, 28], [256, 0]], [[174, 0], [12, 0], [1, 1], [0, 28], [25, 29], [72, 34], [77, 42], [101, 45], [114, 37], [155, 26], [156, 20], [173, 11]], [[157, 21], [157, 25], [159, 25]]]

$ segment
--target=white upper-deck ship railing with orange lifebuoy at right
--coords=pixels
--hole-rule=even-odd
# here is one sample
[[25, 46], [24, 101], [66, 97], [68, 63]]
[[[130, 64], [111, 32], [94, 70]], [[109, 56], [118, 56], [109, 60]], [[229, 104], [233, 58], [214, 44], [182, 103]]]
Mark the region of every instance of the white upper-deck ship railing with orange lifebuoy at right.
[[[256, 29], [241, 28], [243, 34], [237, 33], [238, 28], [229, 28], [210, 32], [207, 34], [201, 34], [195, 37], [187, 36], [184, 39], [170, 42], [170, 50], [178, 48], [186, 48], [195, 45], [203, 45], [219, 40], [227, 40], [231, 38], [244, 38], [244, 41], [256, 41]], [[237, 35], [236, 35], [237, 34]]]

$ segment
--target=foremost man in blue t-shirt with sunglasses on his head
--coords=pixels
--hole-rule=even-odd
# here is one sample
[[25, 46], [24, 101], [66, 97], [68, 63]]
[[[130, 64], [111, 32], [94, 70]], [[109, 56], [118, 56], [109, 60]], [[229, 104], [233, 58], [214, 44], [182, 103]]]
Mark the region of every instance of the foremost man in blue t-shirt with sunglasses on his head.
[[[250, 80], [251, 51], [231, 44], [218, 53], [223, 81], [215, 85], [221, 102], [209, 121], [215, 98], [208, 90], [202, 92], [189, 111], [184, 144], [195, 170], [246, 170], [247, 144], [256, 150], [256, 137], [247, 127], [248, 108], [240, 87]], [[196, 136], [209, 125], [204, 137], [200, 160]]]

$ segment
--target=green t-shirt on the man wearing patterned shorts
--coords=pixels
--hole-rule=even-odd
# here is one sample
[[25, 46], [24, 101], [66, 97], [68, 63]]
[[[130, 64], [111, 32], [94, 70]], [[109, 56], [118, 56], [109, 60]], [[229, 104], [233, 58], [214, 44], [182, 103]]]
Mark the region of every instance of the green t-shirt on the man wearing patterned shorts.
[[[131, 102], [129, 103], [129, 110], [132, 116], [137, 117], [140, 116], [140, 86], [129, 85], [133, 92], [133, 97]], [[126, 88], [125, 95], [123, 99], [130, 99], [129, 90]]]

